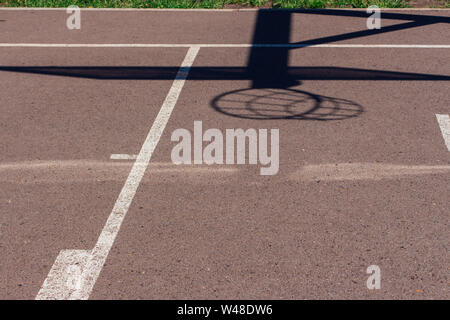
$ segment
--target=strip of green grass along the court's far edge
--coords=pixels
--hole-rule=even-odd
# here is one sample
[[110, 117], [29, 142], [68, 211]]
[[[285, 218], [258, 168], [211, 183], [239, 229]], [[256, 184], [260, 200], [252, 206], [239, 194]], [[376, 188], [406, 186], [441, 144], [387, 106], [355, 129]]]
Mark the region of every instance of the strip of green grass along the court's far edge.
[[[274, 8], [386, 8], [407, 7], [408, 0], [0, 0], [8, 7], [68, 7], [81, 8], [223, 8], [226, 5]], [[446, 6], [450, 7], [448, 0]]]

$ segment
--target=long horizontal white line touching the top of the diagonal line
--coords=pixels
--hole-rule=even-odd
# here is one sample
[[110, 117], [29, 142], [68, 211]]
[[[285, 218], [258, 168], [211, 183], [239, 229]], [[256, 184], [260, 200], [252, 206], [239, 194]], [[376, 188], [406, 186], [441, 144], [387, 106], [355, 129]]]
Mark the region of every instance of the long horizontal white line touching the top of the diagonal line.
[[450, 44], [0, 43], [2, 48], [396, 48], [450, 49]]

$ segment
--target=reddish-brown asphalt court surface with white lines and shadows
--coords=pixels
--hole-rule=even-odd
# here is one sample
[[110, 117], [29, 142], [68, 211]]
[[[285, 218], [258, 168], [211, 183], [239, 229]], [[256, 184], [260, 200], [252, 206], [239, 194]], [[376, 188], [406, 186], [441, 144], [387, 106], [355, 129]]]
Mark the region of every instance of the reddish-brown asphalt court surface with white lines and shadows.
[[0, 298], [450, 298], [450, 11], [321, 12], [1, 9]]

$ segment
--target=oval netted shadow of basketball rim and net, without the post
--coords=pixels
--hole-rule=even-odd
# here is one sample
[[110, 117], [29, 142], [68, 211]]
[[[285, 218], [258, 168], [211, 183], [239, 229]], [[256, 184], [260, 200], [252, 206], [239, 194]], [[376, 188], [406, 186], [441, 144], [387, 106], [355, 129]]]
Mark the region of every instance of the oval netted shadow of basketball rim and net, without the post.
[[343, 120], [363, 112], [356, 102], [291, 88], [238, 89], [215, 97], [211, 106], [228, 116], [255, 120]]

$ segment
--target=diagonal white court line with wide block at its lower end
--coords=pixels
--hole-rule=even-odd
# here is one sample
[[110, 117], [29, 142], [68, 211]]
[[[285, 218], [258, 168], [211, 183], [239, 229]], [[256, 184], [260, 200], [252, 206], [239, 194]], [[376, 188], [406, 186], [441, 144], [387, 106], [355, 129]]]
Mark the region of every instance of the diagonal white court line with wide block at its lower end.
[[95, 247], [92, 250], [62, 250], [36, 299], [89, 298], [199, 49], [189, 48]]

